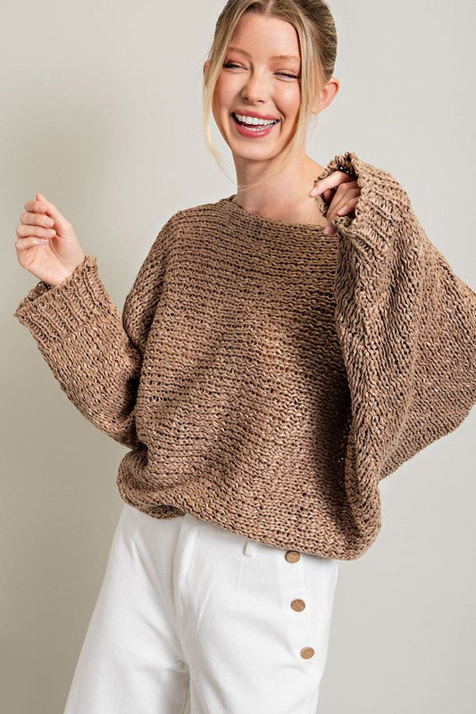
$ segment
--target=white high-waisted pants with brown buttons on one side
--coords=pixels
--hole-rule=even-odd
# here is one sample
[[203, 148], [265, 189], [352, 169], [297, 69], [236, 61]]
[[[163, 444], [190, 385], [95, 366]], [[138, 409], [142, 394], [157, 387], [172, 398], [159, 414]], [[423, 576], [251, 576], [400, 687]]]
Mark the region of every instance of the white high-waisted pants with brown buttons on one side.
[[124, 504], [64, 714], [315, 714], [337, 576]]

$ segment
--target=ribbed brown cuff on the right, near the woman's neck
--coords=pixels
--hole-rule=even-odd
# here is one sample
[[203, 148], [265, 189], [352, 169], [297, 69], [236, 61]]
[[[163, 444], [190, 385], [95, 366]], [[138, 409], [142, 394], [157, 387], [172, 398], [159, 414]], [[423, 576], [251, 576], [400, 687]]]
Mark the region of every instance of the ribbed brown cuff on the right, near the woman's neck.
[[[411, 211], [410, 199], [388, 171], [361, 161], [356, 154], [347, 151], [337, 154], [316, 180], [325, 179], [339, 167], [352, 171], [360, 189], [355, 217], [337, 216], [333, 219], [338, 230], [349, 238], [358, 238], [372, 248], [385, 250], [388, 241], [397, 235], [401, 221]], [[316, 196], [318, 208], [324, 218], [330, 204], [325, 203], [322, 195]]]

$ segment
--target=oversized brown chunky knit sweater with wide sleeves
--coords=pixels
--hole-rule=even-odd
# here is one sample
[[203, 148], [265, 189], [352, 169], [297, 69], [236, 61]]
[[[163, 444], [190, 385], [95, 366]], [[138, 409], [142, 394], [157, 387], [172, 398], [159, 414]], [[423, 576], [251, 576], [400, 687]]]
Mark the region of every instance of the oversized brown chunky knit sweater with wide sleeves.
[[92, 255], [14, 312], [129, 447], [117, 486], [139, 511], [352, 560], [379, 534], [380, 479], [470, 412], [476, 294], [391, 174], [347, 152], [320, 178], [340, 165], [361, 195], [333, 236], [229, 196], [171, 216], [122, 315]]

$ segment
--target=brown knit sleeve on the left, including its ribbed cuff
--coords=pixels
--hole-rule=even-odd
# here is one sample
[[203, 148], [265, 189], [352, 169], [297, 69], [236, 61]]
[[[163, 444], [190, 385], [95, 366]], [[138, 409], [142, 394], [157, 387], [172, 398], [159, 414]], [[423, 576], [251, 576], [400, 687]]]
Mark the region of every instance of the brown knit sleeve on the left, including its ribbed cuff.
[[165, 224], [126, 296], [122, 314], [86, 255], [57, 286], [43, 280], [13, 316], [29, 329], [71, 402], [96, 428], [120, 444], [138, 445], [136, 400], [146, 336], [163, 283]]

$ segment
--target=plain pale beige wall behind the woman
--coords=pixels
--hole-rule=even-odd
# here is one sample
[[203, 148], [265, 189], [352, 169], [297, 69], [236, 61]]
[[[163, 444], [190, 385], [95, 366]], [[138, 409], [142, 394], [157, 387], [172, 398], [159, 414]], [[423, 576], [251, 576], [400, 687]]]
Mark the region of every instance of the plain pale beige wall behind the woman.
[[[15, 228], [23, 203], [42, 192], [96, 255], [121, 306], [171, 214], [234, 193], [230, 152], [214, 127], [227, 179], [202, 124], [202, 64], [222, 5], [27, 0], [4, 9], [0, 696], [8, 714], [63, 711], [122, 508], [115, 477], [125, 453], [75, 410], [12, 317], [38, 282], [16, 260]], [[474, 4], [330, 6], [342, 84], [308, 154], [325, 165], [352, 150], [391, 171], [434, 245], [474, 286]], [[381, 483], [380, 535], [341, 564], [322, 714], [473, 711], [474, 426], [472, 412]]]

